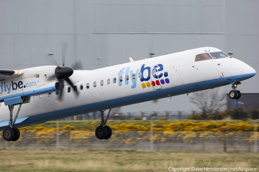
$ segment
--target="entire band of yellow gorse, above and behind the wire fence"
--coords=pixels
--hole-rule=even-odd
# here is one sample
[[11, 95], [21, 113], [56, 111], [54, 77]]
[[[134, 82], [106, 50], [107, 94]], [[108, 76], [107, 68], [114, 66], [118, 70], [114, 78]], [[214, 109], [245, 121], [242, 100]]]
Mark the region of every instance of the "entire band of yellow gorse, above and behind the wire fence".
[[[107, 140], [109, 144], [134, 145], [139, 142], [150, 141], [151, 133], [149, 125], [118, 124], [109, 126], [113, 130], [112, 139]], [[24, 127], [20, 128], [21, 138], [19, 141], [26, 143], [36, 138], [38, 144], [56, 144], [58, 134], [60, 138], [68, 138], [63, 144], [68, 144], [71, 141], [77, 145], [88, 145], [96, 141], [95, 128], [95, 122], [92, 122], [91, 126], [81, 131], [78, 131], [75, 126], [70, 125], [59, 128], [59, 132], [56, 131], [56, 128], [43, 126], [35, 128], [31, 126]], [[197, 139], [216, 139], [215, 142], [221, 143], [226, 142], [227, 138], [238, 138], [248, 140], [249, 142], [254, 141], [254, 134], [247, 133], [254, 132], [254, 126], [238, 122], [235, 124], [227, 124], [220, 121], [211, 121], [209, 123], [181, 121], [171, 122], [170, 124], [160, 122], [159, 124], [153, 124], [153, 131], [154, 143], [192, 143]], [[237, 134], [236, 132], [243, 133]], [[26, 137], [26, 139], [23, 139], [22, 136]]]

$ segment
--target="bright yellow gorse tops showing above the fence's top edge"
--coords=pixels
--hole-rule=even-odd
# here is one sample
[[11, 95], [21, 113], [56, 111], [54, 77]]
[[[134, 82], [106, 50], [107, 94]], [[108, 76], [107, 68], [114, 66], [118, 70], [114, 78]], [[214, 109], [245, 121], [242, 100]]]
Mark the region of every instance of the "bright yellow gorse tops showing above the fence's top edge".
[[[83, 130], [95, 130], [94, 122], [91, 123], [89, 129]], [[150, 126], [142, 126], [135, 124], [118, 124], [118, 125], [109, 125], [113, 131], [150, 131]], [[259, 126], [258, 126], [259, 128]], [[56, 128], [46, 128], [46, 127], [23, 127], [20, 130], [56, 130]], [[59, 129], [60, 131], [77, 131], [75, 126], [64, 126]], [[153, 124], [153, 131], [188, 131], [188, 132], [254, 132], [254, 126], [247, 123], [238, 123], [227, 124], [226, 122], [215, 122], [211, 121], [209, 123], [199, 122], [172, 122], [170, 124], [165, 124], [160, 122], [159, 124]]]

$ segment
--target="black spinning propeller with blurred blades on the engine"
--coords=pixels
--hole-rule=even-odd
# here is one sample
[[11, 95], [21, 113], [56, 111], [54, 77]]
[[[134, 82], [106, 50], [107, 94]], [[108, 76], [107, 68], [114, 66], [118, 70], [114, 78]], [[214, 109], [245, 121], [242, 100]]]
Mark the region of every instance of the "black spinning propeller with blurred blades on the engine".
[[[55, 100], [58, 103], [62, 103], [62, 92], [64, 89], [64, 80], [66, 80], [66, 82], [71, 85], [71, 87], [73, 87], [73, 89], [75, 90], [77, 99], [80, 97], [80, 93], [77, 91], [77, 88], [73, 85], [73, 83], [71, 82], [71, 80], [68, 78], [70, 77], [73, 73], [74, 70], [73, 69], [83, 69], [82, 67], [82, 63], [81, 61], [77, 61], [75, 62], [72, 67], [69, 66], [64, 66], [65, 64], [65, 58], [66, 58], [66, 48], [67, 48], [67, 42], [62, 42], [62, 66], [59, 66], [58, 63], [56, 62], [55, 58], [53, 57], [54, 54], [51, 53], [49, 47], [47, 46], [46, 48], [46, 55], [48, 56], [49, 60], [52, 61], [52, 63], [54, 63], [57, 67], [55, 69], [55, 77], [58, 79], [58, 82], [55, 84], [56, 88], [60, 91], [59, 93], [59, 97], [57, 100]], [[52, 76], [52, 77], [54, 77]]]

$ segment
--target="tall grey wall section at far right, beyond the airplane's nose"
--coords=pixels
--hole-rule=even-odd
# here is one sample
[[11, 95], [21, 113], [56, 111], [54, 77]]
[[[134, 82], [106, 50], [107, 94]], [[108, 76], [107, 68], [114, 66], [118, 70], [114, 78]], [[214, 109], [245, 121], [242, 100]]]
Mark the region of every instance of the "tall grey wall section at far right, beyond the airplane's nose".
[[[259, 60], [259, 1], [226, 1], [226, 50], [257, 72]], [[238, 85], [241, 93], [258, 93], [259, 75]], [[229, 90], [230, 91], [230, 90]]]

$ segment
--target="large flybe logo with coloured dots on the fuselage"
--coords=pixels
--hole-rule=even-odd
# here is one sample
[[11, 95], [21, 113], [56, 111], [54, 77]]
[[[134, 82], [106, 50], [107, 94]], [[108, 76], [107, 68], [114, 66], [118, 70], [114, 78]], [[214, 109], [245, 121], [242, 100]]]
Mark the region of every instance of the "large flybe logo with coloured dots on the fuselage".
[[[154, 72], [152, 71], [152, 73], [151, 73], [151, 67], [148, 67], [148, 66], [145, 67], [145, 64], [142, 64], [141, 69], [136, 70], [136, 72], [135, 72], [136, 75], [135, 75], [135, 73], [133, 73], [133, 70], [129, 70], [129, 69], [130, 69], [130, 67], [127, 67], [127, 69], [124, 67], [119, 71], [119, 73], [118, 73], [119, 86], [122, 86], [122, 81], [123, 81], [122, 75], [124, 74], [124, 71], [125, 71], [125, 79], [124, 80], [125, 80], [126, 85], [129, 84], [129, 81], [128, 81], [129, 76], [131, 77], [131, 80], [132, 80], [131, 88], [136, 88], [136, 85], [137, 85], [136, 75], [138, 75], [139, 72], [140, 72], [140, 75], [139, 75], [140, 82], [144, 82], [144, 83], [141, 84], [142, 88], [151, 87], [151, 85], [155, 86], [155, 85], [170, 83], [168, 78], [165, 78], [165, 80], [160, 79], [163, 76], [164, 77], [168, 76], [167, 72], [164, 72], [164, 73], [162, 72], [163, 71], [163, 65], [162, 64], [157, 64], [154, 67], [152, 67], [152, 70], [155, 70]], [[148, 73], [148, 75], [146, 77], [143, 75], [144, 72]], [[153, 75], [153, 76], [151, 76], [151, 75]], [[149, 81], [151, 77], [153, 77], [151, 82], [145, 82], [145, 81]]]

